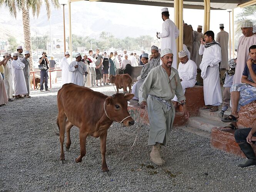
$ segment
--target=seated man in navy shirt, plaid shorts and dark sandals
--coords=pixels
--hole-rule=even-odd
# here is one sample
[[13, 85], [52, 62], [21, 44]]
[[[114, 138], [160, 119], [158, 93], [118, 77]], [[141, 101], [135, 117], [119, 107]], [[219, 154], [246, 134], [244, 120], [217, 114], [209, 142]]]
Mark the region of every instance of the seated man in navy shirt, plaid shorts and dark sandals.
[[256, 100], [256, 45], [249, 47], [249, 56], [251, 57], [244, 67], [242, 83], [233, 84], [231, 92], [231, 114], [221, 119], [223, 122], [231, 122], [230, 126], [224, 127], [222, 131], [232, 131], [237, 129], [236, 122], [239, 118], [238, 111], [241, 106], [247, 105]]

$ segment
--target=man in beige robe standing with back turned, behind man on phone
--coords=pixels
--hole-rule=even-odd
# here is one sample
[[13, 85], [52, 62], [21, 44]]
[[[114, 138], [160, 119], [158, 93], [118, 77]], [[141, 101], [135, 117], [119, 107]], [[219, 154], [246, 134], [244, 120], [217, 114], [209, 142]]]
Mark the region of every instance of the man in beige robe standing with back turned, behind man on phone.
[[217, 33], [216, 41], [221, 45], [221, 66], [220, 69], [228, 70], [228, 32], [224, 31], [224, 24], [219, 24], [221, 30]]

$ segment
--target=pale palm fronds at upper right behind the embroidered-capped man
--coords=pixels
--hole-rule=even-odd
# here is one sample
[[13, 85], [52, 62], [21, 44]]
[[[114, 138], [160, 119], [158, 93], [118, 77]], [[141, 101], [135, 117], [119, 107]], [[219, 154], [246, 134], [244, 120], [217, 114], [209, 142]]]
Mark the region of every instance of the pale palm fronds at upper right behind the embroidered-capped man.
[[256, 5], [253, 6], [249, 6], [249, 7], [245, 7], [243, 8], [241, 13], [238, 13], [238, 15], [236, 15], [236, 35], [239, 37], [242, 35], [241, 32], [241, 23], [242, 21], [251, 21], [254, 23], [256, 23], [256, 20], [253, 19], [256, 18]]

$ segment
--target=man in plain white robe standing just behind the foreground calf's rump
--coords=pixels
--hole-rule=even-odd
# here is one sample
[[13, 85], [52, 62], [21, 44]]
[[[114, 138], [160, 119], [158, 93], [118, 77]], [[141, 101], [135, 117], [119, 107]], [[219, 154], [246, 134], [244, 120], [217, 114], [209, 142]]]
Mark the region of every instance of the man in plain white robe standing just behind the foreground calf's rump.
[[60, 61], [60, 68], [61, 71], [61, 78], [62, 78], [62, 85], [66, 83], [71, 83], [71, 73], [69, 72], [69, 62], [68, 58], [70, 57], [69, 52], [65, 52], [65, 57], [61, 59]]

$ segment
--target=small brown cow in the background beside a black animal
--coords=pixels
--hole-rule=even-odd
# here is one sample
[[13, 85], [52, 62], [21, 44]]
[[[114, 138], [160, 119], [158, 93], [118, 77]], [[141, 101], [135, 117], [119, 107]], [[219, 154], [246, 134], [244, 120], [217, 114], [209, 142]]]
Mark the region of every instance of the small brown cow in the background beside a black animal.
[[119, 93], [119, 89], [123, 88], [124, 92], [127, 92], [127, 87], [129, 87], [129, 93], [132, 93], [132, 78], [129, 74], [116, 74], [109, 76], [109, 83], [114, 83]]

